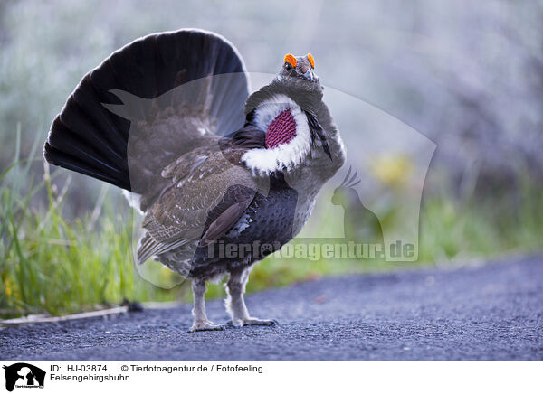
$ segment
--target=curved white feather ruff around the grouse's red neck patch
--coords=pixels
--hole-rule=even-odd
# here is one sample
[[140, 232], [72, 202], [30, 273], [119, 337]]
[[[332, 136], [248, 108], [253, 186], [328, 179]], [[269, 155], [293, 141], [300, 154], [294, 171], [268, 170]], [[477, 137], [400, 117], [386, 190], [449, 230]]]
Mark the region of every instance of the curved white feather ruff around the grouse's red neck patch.
[[242, 156], [242, 161], [252, 174], [266, 175], [274, 171], [291, 171], [309, 154], [311, 148], [310, 126], [308, 118], [300, 106], [285, 95], [270, 98], [254, 111], [254, 121], [262, 130], [267, 130], [275, 117], [285, 109], [291, 110], [296, 122], [296, 136], [287, 144], [272, 149], [251, 149]]

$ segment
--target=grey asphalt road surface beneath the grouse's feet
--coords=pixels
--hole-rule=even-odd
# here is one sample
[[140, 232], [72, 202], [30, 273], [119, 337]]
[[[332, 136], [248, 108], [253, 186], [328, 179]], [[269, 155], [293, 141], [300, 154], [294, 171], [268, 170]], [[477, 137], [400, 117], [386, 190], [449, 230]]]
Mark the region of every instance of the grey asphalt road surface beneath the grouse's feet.
[[[225, 322], [222, 301], [208, 303]], [[543, 360], [543, 256], [327, 278], [247, 297], [276, 327], [187, 333], [190, 305], [0, 330], [9, 361]]]

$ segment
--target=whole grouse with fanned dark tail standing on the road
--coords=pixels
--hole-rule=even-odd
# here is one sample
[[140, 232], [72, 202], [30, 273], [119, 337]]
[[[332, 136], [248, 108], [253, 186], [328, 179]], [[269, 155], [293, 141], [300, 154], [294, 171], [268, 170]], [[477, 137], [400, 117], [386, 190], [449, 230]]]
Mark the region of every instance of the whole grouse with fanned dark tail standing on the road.
[[154, 258], [192, 280], [189, 332], [224, 329], [205, 310], [206, 283], [224, 277], [230, 324], [275, 325], [249, 314], [245, 286], [256, 262], [300, 232], [346, 161], [322, 98], [310, 53], [285, 55], [251, 93], [223, 36], [152, 33], [82, 78], [43, 155], [127, 193], [143, 215], [137, 263]]

